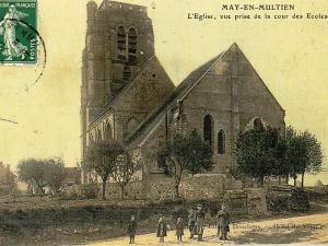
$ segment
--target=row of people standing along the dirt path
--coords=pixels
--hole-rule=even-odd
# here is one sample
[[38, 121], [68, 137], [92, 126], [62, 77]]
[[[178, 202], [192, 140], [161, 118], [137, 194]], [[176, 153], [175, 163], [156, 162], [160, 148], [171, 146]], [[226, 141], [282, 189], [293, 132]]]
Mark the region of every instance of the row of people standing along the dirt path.
[[[230, 214], [225, 206], [222, 206], [222, 209], [218, 213], [218, 236], [220, 239], [227, 239], [226, 235], [230, 232]], [[197, 206], [197, 210], [191, 210], [188, 215], [188, 227], [190, 232], [190, 238], [194, 238], [196, 234], [198, 241], [202, 241], [203, 234], [203, 223], [204, 223], [204, 212], [201, 206]], [[157, 223], [156, 236], [160, 238], [160, 243], [164, 243], [165, 236], [167, 236], [168, 225], [165, 222], [164, 218], [161, 216]], [[176, 237], [178, 242], [183, 242], [184, 233], [184, 221], [181, 218], [178, 218], [176, 221], [175, 230]], [[130, 223], [128, 225], [128, 235], [130, 237], [130, 244], [134, 244], [134, 237], [137, 232], [137, 222], [134, 215], [131, 216]]]

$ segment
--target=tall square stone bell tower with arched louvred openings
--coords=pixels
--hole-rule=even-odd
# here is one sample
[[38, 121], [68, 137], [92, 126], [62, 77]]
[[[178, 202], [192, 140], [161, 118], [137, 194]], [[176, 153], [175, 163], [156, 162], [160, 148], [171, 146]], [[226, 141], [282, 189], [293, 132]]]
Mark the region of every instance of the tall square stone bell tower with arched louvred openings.
[[104, 0], [99, 7], [90, 1], [86, 10], [81, 86], [83, 152], [87, 126], [154, 55], [152, 21], [145, 7]]

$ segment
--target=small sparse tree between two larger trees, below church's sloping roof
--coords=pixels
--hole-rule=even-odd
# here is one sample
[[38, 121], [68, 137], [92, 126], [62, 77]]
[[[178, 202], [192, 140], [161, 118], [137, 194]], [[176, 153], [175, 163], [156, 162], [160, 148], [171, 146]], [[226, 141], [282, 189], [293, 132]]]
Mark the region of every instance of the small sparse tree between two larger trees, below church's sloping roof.
[[121, 191], [121, 199], [125, 198], [125, 188], [132, 179], [133, 174], [140, 169], [141, 160], [139, 156], [132, 157], [128, 153], [120, 154], [113, 172], [113, 179], [118, 184]]

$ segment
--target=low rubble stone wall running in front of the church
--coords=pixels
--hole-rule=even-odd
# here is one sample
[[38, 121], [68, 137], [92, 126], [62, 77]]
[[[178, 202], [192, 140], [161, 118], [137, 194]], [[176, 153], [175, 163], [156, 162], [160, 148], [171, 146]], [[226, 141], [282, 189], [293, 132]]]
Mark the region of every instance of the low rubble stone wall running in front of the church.
[[[171, 200], [175, 197], [173, 178], [159, 177], [151, 180], [131, 181], [125, 190], [126, 199], [152, 201]], [[218, 206], [227, 203], [234, 214], [267, 214], [266, 191], [262, 188], [229, 189], [224, 175], [202, 174], [185, 177], [179, 194], [187, 200], [216, 200]], [[120, 199], [121, 190], [117, 184], [107, 185], [107, 197]]]

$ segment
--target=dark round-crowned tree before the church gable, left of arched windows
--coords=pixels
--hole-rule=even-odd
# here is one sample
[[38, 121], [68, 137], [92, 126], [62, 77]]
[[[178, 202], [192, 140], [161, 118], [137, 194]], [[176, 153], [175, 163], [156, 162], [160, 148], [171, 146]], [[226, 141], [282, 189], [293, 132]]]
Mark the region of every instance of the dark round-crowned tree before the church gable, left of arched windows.
[[172, 141], [160, 149], [157, 159], [159, 167], [174, 178], [176, 197], [179, 197], [184, 172], [189, 171], [194, 175], [213, 167], [212, 149], [196, 130], [188, 136], [175, 134]]

